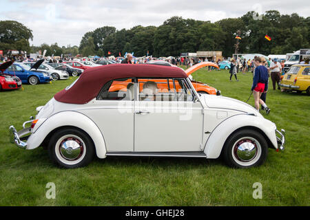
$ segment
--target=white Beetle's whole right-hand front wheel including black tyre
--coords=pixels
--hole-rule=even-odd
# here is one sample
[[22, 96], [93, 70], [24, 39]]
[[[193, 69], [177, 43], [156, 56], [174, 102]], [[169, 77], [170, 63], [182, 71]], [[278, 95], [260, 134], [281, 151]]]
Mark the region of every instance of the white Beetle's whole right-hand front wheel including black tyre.
[[265, 162], [268, 145], [255, 130], [243, 129], [230, 135], [223, 149], [224, 160], [234, 168], [250, 168]]

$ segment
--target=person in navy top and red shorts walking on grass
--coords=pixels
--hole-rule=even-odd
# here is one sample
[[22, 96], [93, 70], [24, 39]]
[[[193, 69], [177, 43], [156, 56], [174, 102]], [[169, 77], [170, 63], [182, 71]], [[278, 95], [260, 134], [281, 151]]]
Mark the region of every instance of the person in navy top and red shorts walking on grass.
[[267, 104], [260, 98], [263, 93], [267, 93], [268, 91], [268, 69], [265, 67], [265, 58], [264, 57], [256, 57], [254, 59], [254, 63], [256, 65], [255, 73], [253, 77], [253, 84], [251, 87], [251, 91], [253, 91], [255, 108], [257, 111], [260, 110], [260, 104], [264, 107], [267, 114], [269, 114], [270, 109], [267, 107]]

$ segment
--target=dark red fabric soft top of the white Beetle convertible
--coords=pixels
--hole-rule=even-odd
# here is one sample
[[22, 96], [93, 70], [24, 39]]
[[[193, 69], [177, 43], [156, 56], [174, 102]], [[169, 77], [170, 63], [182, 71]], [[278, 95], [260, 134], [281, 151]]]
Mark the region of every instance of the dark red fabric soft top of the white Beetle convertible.
[[70, 89], [59, 91], [54, 98], [59, 102], [85, 104], [99, 94], [105, 83], [118, 78], [130, 77], [187, 78], [187, 74], [179, 67], [147, 64], [103, 65], [86, 69]]

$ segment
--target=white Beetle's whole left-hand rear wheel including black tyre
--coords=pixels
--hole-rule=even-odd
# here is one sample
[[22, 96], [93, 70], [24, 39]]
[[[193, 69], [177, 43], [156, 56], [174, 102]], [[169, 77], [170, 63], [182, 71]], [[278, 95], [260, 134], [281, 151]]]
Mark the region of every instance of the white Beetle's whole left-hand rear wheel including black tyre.
[[94, 157], [94, 143], [80, 129], [61, 129], [52, 135], [48, 146], [50, 159], [64, 168], [87, 166]]

